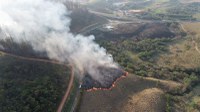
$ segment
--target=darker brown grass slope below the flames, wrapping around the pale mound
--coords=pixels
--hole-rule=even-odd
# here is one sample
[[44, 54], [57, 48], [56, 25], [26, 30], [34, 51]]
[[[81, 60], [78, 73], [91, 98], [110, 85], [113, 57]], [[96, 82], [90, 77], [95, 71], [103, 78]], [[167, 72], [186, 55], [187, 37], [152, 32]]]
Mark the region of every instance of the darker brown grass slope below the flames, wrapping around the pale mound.
[[[169, 83], [171, 82], [168, 82], [168, 85]], [[150, 80], [130, 74], [127, 78], [117, 82], [116, 87], [110, 91], [85, 92], [82, 96], [79, 112], [122, 112], [129, 99], [145, 89], [160, 88], [169, 92], [171, 87], [165, 84], [161, 80]], [[146, 93], [147, 97], [152, 97], [151, 93], [149, 95]], [[160, 102], [160, 99], [158, 100]], [[164, 100], [162, 101], [165, 103]]]

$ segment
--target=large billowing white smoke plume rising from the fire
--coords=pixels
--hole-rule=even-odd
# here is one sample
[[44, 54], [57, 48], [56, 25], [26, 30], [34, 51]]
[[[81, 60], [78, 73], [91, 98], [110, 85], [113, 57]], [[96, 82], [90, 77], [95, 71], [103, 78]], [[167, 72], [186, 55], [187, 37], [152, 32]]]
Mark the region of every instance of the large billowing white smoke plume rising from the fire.
[[10, 35], [16, 42], [26, 40], [35, 51], [45, 51], [50, 59], [69, 62], [101, 80], [97, 68], [117, 64], [94, 42], [94, 36], [70, 33], [69, 14], [62, 3], [53, 0], [0, 0], [0, 25], [6, 34], [0, 34], [0, 39]]

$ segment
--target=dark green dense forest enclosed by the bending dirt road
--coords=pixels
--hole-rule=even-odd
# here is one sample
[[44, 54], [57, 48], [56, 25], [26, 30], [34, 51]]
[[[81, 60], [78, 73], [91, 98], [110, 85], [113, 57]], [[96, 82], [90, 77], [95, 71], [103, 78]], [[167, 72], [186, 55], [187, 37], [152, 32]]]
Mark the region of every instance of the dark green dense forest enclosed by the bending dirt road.
[[70, 72], [61, 65], [0, 56], [0, 111], [55, 112]]

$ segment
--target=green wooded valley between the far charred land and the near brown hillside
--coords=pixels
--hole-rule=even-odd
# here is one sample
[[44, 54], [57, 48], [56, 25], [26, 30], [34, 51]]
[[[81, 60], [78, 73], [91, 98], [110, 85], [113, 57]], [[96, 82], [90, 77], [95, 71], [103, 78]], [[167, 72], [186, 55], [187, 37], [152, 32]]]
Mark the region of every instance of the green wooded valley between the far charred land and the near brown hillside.
[[[167, 57], [167, 55], [176, 56], [179, 52], [185, 52], [177, 50], [171, 53], [171, 48], [169, 48], [169, 46], [174, 45], [173, 43], [177, 43], [176, 39], [156, 38], [144, 39], [141, 41], [125, 39], [113, 43], [108, 41], [101, 41], [99, 43], [114, 56], [114, 60], [126, 71], [136, 75], [178, 81], [185, 83], [187, 87], [199, 79], [198, 74], [200, 70], [198, 69], [199, 63], [197, 60], [194, 60], [196, 61], [196, 66], [184, 66], [184, 64], [182, 64], [183, 62], [179, 63], [178, 56], [177, 58]], [[183, 48], [185, 50], [188, 49], [185, 47]], [[188, 50], [188, 52], [191, 52], [191, 50]], [[179, 57], [181, 56], [182, 55]], [[190, 56], [185, 57], [190, 58]], [[198, 56], [196, 57], [198, 58]], [[188, 62], [189, 61], [191, 62], [190, 59], [188, 59]]]

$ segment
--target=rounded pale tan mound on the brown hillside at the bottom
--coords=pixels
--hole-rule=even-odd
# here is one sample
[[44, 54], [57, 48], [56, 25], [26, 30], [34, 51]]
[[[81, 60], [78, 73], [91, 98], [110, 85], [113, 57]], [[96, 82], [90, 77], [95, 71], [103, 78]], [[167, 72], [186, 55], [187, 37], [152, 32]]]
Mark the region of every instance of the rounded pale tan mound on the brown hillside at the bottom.
[[165, 93], [157, 88], [145, 89], [130, 97], [122, 112], [164, 112]]

